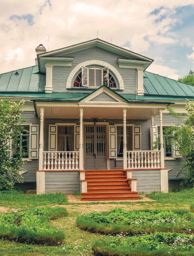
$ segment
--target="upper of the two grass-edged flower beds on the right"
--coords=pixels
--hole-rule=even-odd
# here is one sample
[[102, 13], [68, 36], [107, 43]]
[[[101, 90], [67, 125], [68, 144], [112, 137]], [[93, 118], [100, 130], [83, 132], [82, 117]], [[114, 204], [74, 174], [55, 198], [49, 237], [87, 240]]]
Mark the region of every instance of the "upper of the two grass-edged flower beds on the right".
[[127, 232], [129, 235], [154, 232], [194, 232], [194, 214], [177, 210], [125, 211], [121, 208], [108, 212], [82, 215], [76, 224], [83, 230], [106, 234]]

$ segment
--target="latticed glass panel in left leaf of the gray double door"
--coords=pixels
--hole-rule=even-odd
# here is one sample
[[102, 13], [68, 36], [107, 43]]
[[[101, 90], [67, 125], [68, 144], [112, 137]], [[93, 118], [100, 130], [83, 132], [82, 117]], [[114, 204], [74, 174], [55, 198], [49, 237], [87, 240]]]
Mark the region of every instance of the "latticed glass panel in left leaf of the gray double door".
[[86, 156], [94, 156], [94, 126], [86, 126]]

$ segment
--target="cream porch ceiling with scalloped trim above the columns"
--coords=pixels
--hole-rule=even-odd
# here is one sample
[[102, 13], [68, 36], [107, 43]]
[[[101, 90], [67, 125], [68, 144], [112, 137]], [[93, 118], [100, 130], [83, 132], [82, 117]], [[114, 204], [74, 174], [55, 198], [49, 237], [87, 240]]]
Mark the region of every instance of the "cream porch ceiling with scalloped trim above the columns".
[[[140, 106], [141, 105], [141, 106]], [[40, 108], [44, 107], [44, 118], [74, 118], [79, 119], [79, 108], [83, 107], [84, 119], [123, 119], [123, 108], [127, 108], [127, 119], [150, 119], [150, 115], [157, 115], [159, 109], [166, 109], [165, 105], [156, 104], [111, 104], [111, 105], [95, 105], [95, 104], [45, 104], [37, 102], [36, 109], [40, 117]]]

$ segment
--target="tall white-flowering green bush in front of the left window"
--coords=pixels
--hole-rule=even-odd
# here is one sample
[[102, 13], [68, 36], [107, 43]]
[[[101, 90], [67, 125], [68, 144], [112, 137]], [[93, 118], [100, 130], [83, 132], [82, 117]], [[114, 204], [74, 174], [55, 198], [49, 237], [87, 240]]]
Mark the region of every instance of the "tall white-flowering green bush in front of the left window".
[[[23, 182], [19, 168], [25, 164], [20, 153], [21, 145], [17, 144], [18, 135], [24, 131], [20, 120], [24, 100], [16, 103], [10, 100], [0, 100], [0, 190], [9, 190], [14, 186], [14, 181]], [[19, 124], [19, 122], [21, 122]], [[10, 148], [10, 141], [12, 143]], [[12, 151], [15, 152], [14, 156]]]

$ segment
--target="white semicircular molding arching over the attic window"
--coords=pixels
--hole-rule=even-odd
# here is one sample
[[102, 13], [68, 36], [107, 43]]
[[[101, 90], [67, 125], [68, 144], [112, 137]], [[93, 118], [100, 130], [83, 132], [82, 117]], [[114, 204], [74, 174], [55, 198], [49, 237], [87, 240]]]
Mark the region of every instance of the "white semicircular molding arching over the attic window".
[[82, 67], [86, 67], [89, 65], [99, 65], [99, 66], [103, 66], [103, 67], [107, 67], [109, 68], [109, 70], [112, 71], [112, 73], [116, 76], [118, 82], [119, 82], [119, 89], [120, 90], [124, 90], [124, 82], [123, 79], [119, 73], [119, 71], [114, 68], [112, 65], [110, 65], [107, 62], [101, 61], [101, 60], [88, 60], [88, 61], [84, 61], [82, 63], [79, 63], [69, 74], [69, 77], [67, 78], [67, 83], [66, 83], [66, 88], [70, 89], [71, 88], [71, 84], [72, 84], [72, 80], [75, 76], [75, 74], [77, 73], [77, 71], [79, 71]]

